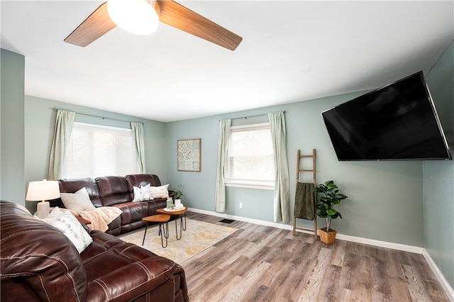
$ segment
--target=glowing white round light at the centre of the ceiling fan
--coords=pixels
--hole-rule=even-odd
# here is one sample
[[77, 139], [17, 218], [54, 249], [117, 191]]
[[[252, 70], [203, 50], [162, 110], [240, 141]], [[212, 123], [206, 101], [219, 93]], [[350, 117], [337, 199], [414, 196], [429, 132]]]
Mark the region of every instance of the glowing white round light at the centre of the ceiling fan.
[[159, 6], [155, 0], [108, 0], [107, 11], [112, 21], [137, 35], [149, 35], [157, 30]]

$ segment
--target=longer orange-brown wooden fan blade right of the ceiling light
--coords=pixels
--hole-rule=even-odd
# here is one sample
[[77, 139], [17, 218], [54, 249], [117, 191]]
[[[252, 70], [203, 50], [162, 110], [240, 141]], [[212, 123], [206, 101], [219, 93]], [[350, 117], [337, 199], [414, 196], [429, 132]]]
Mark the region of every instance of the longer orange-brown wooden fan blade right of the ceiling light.
[[194, 11], [175, 1], [157, 0], [157, 3], [160, 6], [159, 20], [162, 23], [226, 47], [228, 50], [236, 50], [236, 47], [243, 40], [239, 35], [200, 16], [198, 13], [194, 13]]

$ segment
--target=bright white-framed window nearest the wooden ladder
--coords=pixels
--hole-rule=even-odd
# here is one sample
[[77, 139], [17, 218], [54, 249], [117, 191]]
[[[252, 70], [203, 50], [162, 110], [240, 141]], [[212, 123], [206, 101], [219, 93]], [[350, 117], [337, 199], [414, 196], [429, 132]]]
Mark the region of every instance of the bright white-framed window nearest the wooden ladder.
[[226, 186], [273, 189], [275, 160], [270, 123], [231, 127]]

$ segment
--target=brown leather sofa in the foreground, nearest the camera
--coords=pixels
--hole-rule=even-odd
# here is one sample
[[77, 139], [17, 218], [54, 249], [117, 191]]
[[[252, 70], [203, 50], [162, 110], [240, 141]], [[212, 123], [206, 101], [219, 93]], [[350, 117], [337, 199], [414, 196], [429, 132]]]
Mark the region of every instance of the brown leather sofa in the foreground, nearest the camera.
[[184, 270], [113, 235], [91, 231], [79, 255], [57, 228], [0, 202], [1, 301], [189, 301]]

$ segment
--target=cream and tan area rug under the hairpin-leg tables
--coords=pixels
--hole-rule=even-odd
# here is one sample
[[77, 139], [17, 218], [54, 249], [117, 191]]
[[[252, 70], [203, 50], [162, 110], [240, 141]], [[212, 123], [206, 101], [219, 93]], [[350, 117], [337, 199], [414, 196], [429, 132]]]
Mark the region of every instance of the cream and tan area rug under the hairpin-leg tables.
[[167, 240], [167, 247], [163, 248], [161, 245], [161, 237], [157, 234], [158, 229], [157, 225], [148, 227], [147, 236], [145, 237], [145, 243], [143, 245], [142, 240], [145, 228], [119, 235], [118, 237], [121, 240], [134, 243], [135, 245], [154, 252], [156, 255], [172, 259], [178, 264], [181, 264], [190, 257], [199, 254], [199, 252], [206, 250], [208, 247], [211, 247], [211, 245], [214, 245], [216, 242], [223, 240], [223, 238], [238, 230], [223, 225], [214, 225], [199, 220], [187, 219], [186, 230], [183, 230], [182, 232], [182, 239], [177, 240], [175, 235], [175, 221], [169, 221], [170, 235]]

